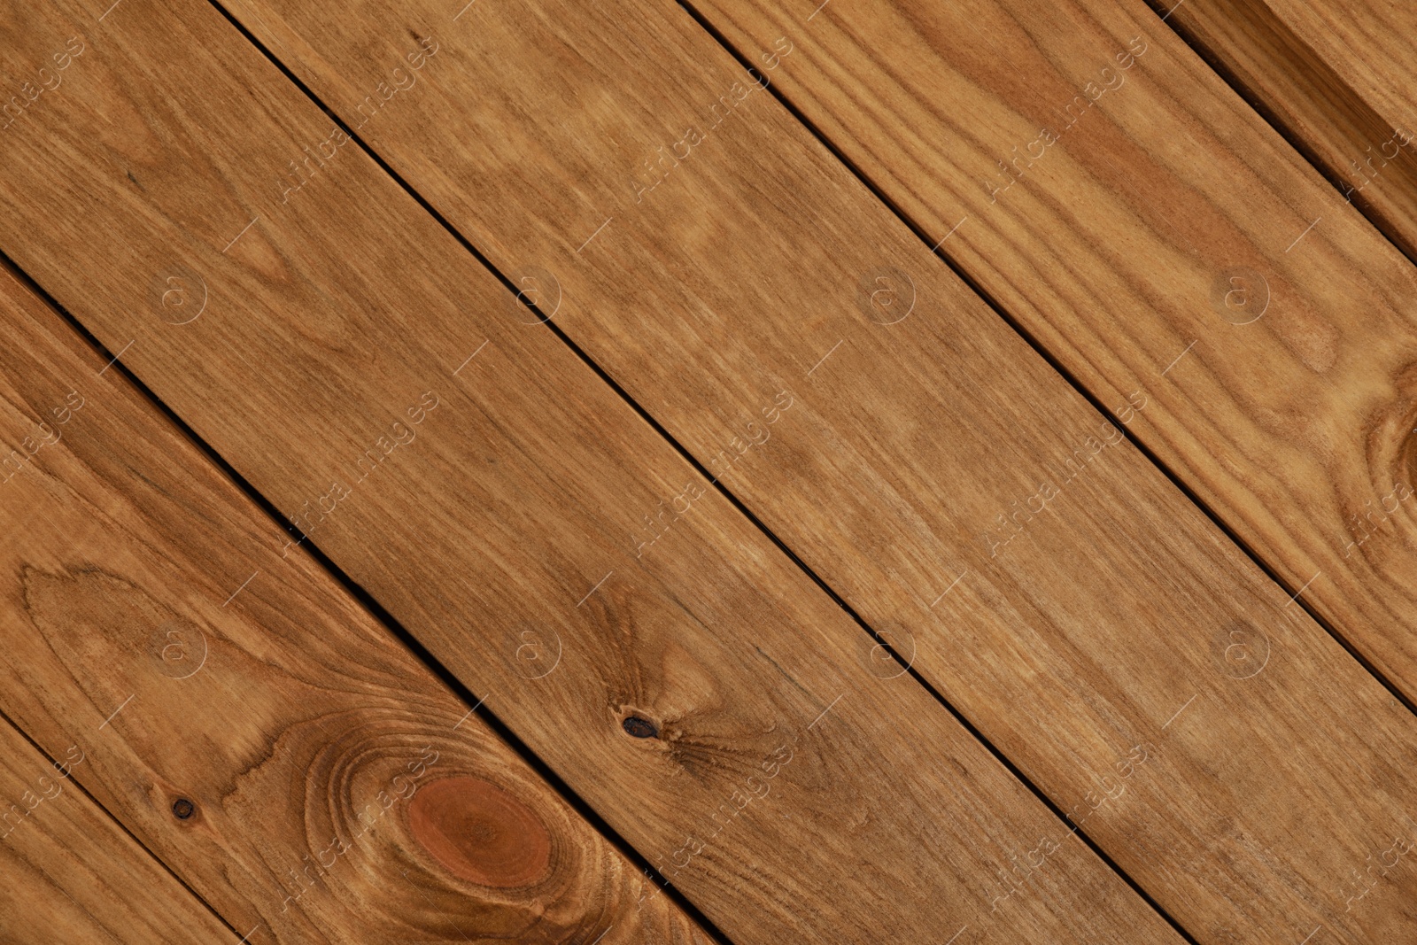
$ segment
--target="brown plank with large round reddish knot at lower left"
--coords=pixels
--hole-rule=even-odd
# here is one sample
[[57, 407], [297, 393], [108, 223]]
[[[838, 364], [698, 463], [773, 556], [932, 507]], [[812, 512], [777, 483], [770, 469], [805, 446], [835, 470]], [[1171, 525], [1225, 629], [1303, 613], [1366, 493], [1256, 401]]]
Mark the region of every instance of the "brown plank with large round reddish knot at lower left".
[[0, 708], [234, 928], [710, 941], [3, 272], [0, 337]]

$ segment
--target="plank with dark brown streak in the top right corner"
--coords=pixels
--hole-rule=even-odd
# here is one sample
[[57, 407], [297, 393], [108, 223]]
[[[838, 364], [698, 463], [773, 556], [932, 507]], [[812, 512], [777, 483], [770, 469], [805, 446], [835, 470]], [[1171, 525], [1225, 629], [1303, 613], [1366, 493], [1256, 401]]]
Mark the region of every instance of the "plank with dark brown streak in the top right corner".
[[1190, 0], [1166, 21], [1417, 261], [1413, 4]]

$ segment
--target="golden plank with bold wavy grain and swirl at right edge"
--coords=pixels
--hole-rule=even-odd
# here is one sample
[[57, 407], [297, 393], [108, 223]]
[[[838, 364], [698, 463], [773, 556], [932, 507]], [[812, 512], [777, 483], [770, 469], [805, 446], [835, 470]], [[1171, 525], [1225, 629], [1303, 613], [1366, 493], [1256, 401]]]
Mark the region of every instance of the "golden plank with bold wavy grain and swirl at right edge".
[[1342, 196], [1139, 0], [703, 9], [1417, 700], [1417, 271]]

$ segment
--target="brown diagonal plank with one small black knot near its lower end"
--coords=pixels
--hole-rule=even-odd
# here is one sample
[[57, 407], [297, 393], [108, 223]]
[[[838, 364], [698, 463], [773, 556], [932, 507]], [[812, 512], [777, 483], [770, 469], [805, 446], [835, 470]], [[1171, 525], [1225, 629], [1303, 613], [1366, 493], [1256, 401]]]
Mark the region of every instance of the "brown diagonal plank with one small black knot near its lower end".
[[[99, 10], [69, 0], [4, 9], [24, 23], [26, 48], [82, 33], [89, 51], [88, 71], [35, 109], [44, 123], [4, 153], [0, 245], [734, 941], [1178, 941], [917, 681], [883, 672], [880, 647], [565, 344], [513, 317], [523, 312], [514, 296], [374, 162], [336, 136], [340, 173], [282, 193], [281, 173], [302, 146], [329, 142], [330, 123], [208, 4], [125, 0], [102, 26]], [[422, 40], [428, 75], [442, 54]], [[395, 64], [422, 40], [400, 38]], [[785, 426], [798, 408], [791, 395], [777, 404]], [[126, 462], [135, 451], [164, 452], [132, 445]], [[105, 455], [95, 449], [86, 462]], [[103, 468], [118, 475], [115, 462]], [[162, 506], [156, 490], [137, 494]], [[173, 530], [214, 514], [210, 502], [179, 504], [197, 520], [162, 506]], [[648, 545], [632, 530], [662, 506], [691, 514]], [[289, 754], [271, 752], [268, 734], [255, 738], [237, 721], [295, 713], [340, 731], [373, 711], [357, 706], [374, 704], [393, 718], [356, 731], [366, 741], [387, 731], [402, 762], [456, 717], [438, 713], [428, 728], [402, 708], [404, 690], [390, 689], [402, 676], [346, 681], [312, 664], [329, 662], [327, 647], [353, 647], [350, 632], [305, 629], [313, 618], [290, 615], [295, 604], [275, 584], [303, 562], [279, 561], [296, 553], [269, 527], [230, 519], [211, 528], [220, 553], [201, 558], [200, 581], [160, 577], [160, 554], [123, 572], [157, 568], [129, 579], [143, 594], [180, 588], [166, 606], [213, 626], [210, 638], [251, 621], [298, 640], [281, 653], [300, 659], [259, 663], [302, 684], [323, 680], [346, 694], [346, 711], [319, 713], [264, 684], [222, 686], [213, 697], [230, 700], [221, 715], [232, 731], [217, 745], [204, 738], [201, 751], [228, 764], [211, 765], [213, 775], [164, 766], [150, 782], [190, 791], [211, 776], [211, 795], [239, 806], [252, 778], [288, 791], [312, 765], [329, 765], [336, 771], [303, 795], [316, 827], [302, 826], [299, 805], [283, 827], [326, 844], [324, 798], [336, 789], [320, 785], [347, 754], [319, 752], [305, 724], [278, 742]], [[130, 606], [157, 609], [146, 596]], [[269, 647], [232, 646], [230, 659]], [[370, 674], [383, 664], [351, 662]], [[89, 718], [128, 696], [113, 677], [98, 684]], [[125, 738], [159, 744], [159, 723], [136, 707], [180, 718], [180, 698], [166, 679], [145, 680], [120, 717]], [[81, 724], [78, 713], [51, 718], [40, 706], [26, 715], [35, 731], [45, 720]], [[405, 735], [400, 723], [417, 728]], [[130, 762], [145, 759], [171, 764], [146, 751]], [[251, 774], [234, 776], [232, 766]], [[115, 779], [115, 792], [123, 783]], [[146, 798], [132, 803], [135, 817], [157, 817], [153, 830], [171, 830], [166, 793], [156, 813], [145, 813]], [[166, 850], [162, 840], [154, 849]], [[571, 856], [563, 846], [557, 856]], [[1029, 851], [1049, 868], [1015, 867], [1012, 857]], [[245, 870], [228, 860], [211, 849], [203, 863], [213, 883], [230, 874], [252, 902], [278, 880], [265, 873], [289, 863], [258, 859], [247, 890]], [[347, 870], [332, 881], [356, 888], [337, 904], [356, 908], [356, 893], [383, 876]], [[568, 868], [567, 881], [582, 876], [606, 895], [622, 888], [614, 873]], [[1019, 891], [1003, 908], [1006, 883]], [[391, 884], [388, 895], [407, 891]], [[397, 905], [370, 905], [368, 921], [425, 915], [410, 911], [417, 902]], [[310, 908], [336, 902], [320, 895]], [[563, 931], [546, 929], [544, 941], [589, 941]], [[602, 945], [638, 934], [648, 928]]]

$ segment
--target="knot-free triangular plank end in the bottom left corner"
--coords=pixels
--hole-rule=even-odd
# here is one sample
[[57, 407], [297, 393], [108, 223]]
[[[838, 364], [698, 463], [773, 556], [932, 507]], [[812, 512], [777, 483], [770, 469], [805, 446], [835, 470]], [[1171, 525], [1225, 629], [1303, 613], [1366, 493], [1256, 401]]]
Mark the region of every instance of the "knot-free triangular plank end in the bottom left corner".
[[0, 932], [13, 945], [174, 942], [237, 935], [71, 778], [77, 744], [45, 758], [0, 718]]

